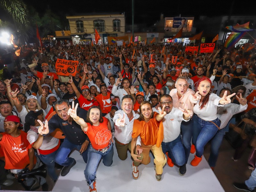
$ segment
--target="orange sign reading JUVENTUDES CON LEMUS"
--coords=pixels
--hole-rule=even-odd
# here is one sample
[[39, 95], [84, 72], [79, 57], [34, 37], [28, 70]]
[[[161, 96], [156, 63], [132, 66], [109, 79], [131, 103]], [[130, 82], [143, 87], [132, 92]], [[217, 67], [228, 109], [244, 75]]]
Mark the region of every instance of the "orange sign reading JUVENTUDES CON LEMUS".
[[55, 63], [56, 74], [61, 76], [76, 76], [76, 67], [79, 61], [57, 59]]

